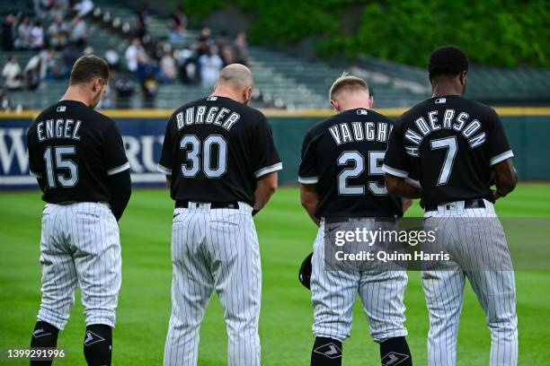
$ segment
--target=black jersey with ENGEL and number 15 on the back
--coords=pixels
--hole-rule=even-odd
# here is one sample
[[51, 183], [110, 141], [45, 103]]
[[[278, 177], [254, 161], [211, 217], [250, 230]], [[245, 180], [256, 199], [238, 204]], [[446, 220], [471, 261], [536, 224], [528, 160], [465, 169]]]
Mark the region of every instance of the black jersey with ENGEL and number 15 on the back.
[[42, 199], [110, 202], [107, 177], [129, 169], [119, 128], [75, 100], [44, 109], [27, 133], [31, 175], [43, 180]]

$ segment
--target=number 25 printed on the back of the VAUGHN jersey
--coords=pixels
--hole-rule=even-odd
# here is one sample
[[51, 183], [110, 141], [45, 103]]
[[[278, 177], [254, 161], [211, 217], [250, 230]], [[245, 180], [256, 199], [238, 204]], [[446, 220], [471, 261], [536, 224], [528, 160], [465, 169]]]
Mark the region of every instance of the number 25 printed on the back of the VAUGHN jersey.
[[[368, 152], [368, 175], [383, 176], [384, 171], [380, 167], [384, 160], [386, 152]], [[351, 168], [344, 168], [338, 174], [338, 194], [341, 196], [362, 196], [365, 194], [365, 186], [351, 186], [348, 179], [357, 178], [365, 170], [365, 157], [359, 152], [343, 152], [338, 158], [338, 165], [347, 166], [353, 163]], [[384, 185], [379, 185], [376, 181], [367, 182], [368, 190], [375, 196], [387, 195], [387, 189]]]

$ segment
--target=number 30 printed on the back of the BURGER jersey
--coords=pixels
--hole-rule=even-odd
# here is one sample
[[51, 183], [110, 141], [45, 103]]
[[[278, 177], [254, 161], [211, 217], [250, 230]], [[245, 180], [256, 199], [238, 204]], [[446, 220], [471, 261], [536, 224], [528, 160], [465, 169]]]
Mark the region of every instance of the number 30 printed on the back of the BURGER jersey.
[[[213, 150], [217, 150], [217, 167], [212, 167]], [[202, 154], [200, 153], [202, 147]], [[180, 149], [186, 151], [185, 163], [182, 164], [183, 177], [193, 178], [202, 171], [208, 178], [219, 178], [227, 170], [227, 142], [221, 135], [209, 135], [202, 144], [196, 135], [184, 135], [180, 142]], [[202, 157], [202, 164], [200, 158]]]

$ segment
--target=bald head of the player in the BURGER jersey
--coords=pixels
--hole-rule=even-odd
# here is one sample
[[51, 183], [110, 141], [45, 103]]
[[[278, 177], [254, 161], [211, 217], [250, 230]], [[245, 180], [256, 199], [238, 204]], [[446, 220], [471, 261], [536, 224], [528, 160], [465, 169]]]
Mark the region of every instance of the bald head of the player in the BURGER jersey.
[[248, 67], [241, 64], [226, 65], [217, 76], [216, 87], [212, 95], [248, 104], [252, 98], [253, 85], [253, 74]]

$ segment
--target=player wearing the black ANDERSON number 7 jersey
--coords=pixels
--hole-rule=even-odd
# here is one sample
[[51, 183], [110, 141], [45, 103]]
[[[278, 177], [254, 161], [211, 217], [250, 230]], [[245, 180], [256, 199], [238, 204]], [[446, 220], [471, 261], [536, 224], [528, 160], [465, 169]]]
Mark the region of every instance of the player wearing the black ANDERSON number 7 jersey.
[[[432, 52], [428, 68], [433, 97], [405, 112], [396, 123], [383, 166], [386, 187], [395, 195], [421, 197], [425, 225], [439, 230], [441, 243], [457, 253], [451, 261], [464, 265], [465, 258], [483, 256], [485, 250], [507, 249], [493, 204], [516, 187], [517, 173], [499, 116], [462, 96], [468, 71], [466, 54], [456, 47], [438, 48]], [[410, 176], [418, 179], [420, 187], [405, 180]], [[477, 222], [485, 226], [479, 228]], [[471, 248], [483, 252], [468, 252]], [[506, 254], [504, 261], [510, 262], [509, 256]], [[518, 318], [513, 271], [462, 268], [422, 272], [430, 313], [428, 363], [457, 364], [458, 319], [467, 277], [491, 330], [490, 364], [516, 365]]]

